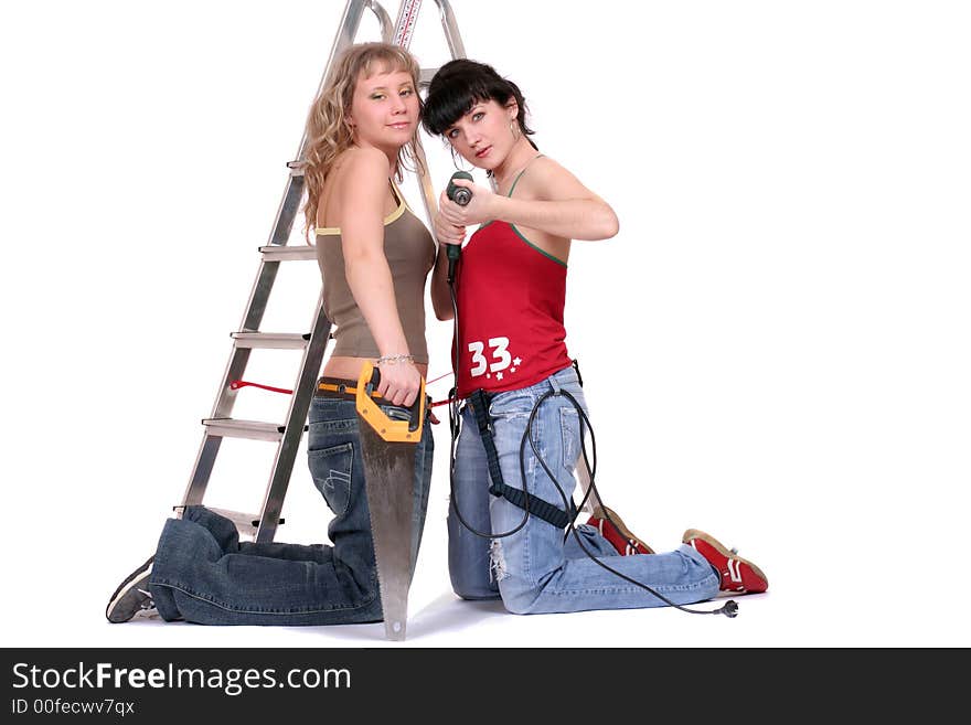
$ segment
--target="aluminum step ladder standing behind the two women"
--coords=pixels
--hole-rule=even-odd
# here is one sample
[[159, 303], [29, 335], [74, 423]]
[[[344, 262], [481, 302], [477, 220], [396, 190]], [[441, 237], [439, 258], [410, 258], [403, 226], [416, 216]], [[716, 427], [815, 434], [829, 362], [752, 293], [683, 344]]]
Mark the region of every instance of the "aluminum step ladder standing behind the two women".
[[[435, 3], [438, 6], [441, 26], [451, 57], [466, 57], [465, 46], [456, 26], [451, 6], [448, 0], [435, 0]], [[349, 45], [354, 43], [365, 10], [372, 11], [377, 17], [384, 42], [395, 43], [407, 49], [412, 42], [420, 7], [422, 0], [404, 0], [398, 10], [397, 21], [392, 25], [390, 15], [378, 2], [374, 0], [348, 0], [318, 93], [327, 84], [334, 61]], [[427, 86], [436, 71], [437, 68], [422, 70], [423, 86]], [[259, 329], [280, 264], [296, 262], [312, 262], [316, 264], [317, 262], [317, 253], [313, 246], [288, 246], [287, 244], [294, 220], [299, 212], [303, 198], [303, 173], [301, 166], [307, 141], [307, 135], [305, 134], [300, 140], [295, 160], [287, 163], [287, 168], [290, 171], [289, 178], [279, 209], [277, 210], [269, 242], [266, 246], [259, 247], [259, 268], [256, 274], [256, 280], [253, 284], [253, 290], [249, 294], [249, 300], [246, 303], [246, 311], [243, 314], [243, 321], [239, 323], [239, 330], [231, 335], [233, 349], [223, 373], [222, 382], [220, 383], [212, 413], [202, 420], [202, 444], [199, 448], [189, 486], [185, 489], [181, 504], [174, 507], [177, 515], [181, 515], [186, 505], [204, 504], [212, 511], [232, 520], [241, 536], [250, 537], [257, 542], [271, 542], [276, 535], [277, 526], [282, 523], [280, 514], [284, 498], [287, 494], [287, 487], [294, 470], [297, 450], [300, 447], [303, 431], [307, 430], [307, 414], [310, 409], [310, 401], [314, 393], [331, 331], [331, 322], [323, 313], [322, 290], [317, 300], [317, 309], [313, 313], [313, 321], [309, 332], [267, 332]], [[424, 168], [427, 169], [424, 158], [422, 162]], [[420, 171], [417, 173], [419, 173], [425, 212], [428, 217], [429, 227], [433, 228], [430, 222], [437, 211], [435, 192], [428, 174], [422, 174]], [[290, 398], [290, 406], [282, 423], [241, 420], [232, 417], [237, 393], [237, 388], [234, 387], [233, 383], [244, 376], [249, 361], [249, 353], [255, 349], [303, 350], [303, 356], [300, 361], [300, 367]], [[205, 491], [223, 438], [247, 438], [277, 444], [269, 481], [258, 513], [228, 511], [204, 503]]]

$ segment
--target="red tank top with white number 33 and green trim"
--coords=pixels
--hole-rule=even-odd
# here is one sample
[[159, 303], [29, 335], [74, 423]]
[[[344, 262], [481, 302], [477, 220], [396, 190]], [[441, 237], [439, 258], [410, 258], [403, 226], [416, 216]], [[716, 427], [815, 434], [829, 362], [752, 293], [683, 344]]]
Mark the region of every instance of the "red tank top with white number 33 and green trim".
[[479, 227], [462, 248], [455, 285], [459, 397], [480, 387], [529, 387], [570, 364], [563, 327], [566, 265], [514, 226]]

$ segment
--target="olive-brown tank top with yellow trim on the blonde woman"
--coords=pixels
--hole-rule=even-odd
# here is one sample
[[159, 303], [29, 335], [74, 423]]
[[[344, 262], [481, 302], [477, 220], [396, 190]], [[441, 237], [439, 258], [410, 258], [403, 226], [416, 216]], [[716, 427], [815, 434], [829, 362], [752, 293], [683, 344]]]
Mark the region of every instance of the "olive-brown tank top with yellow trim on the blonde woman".
[[[425, 280], [435, 265], [435, 242], [425, 225], [392, 184], [398, 206], [384, 218], [384, 255], [391, 268], [398, 317], [416, 363], [428, 363], [425, 341]], [[344, 252], [338, 227], [317, 230], [317, 264], [323, 276], [323, 312], [334, 324], [331, 354], [380, 358], [367, 321], [354, 301], [344, 274]]]

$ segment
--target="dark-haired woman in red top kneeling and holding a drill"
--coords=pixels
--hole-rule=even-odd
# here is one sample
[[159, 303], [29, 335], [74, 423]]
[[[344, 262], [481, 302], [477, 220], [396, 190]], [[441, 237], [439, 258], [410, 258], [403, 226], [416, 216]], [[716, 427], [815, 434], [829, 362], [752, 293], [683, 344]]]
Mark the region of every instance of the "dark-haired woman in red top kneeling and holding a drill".
[[[665, 604], [631, 579], [679, 605], [719, 589], [765, 590], [758, 567], [697, 530], [685, 532], [676, 551], [653, 554], [598, 510], [576, 536], [564, 536], [564, 500], [572, 498], [580, 454], [581, 416], [570, 398], [586, 413], [565, 344], [567, 262], [572, 239], [612, 237], [617, 217], [573, 173], [538, 152], [529, 138], [523, 94], [489, 65], [444, 65], [431, 81], [424, 124], [486, 170], [497, 189], [458, 181], [472, 190], [470, 203], [460, 206], [442, 194], [435, 220], [447, 244], [462, 244], [466, 227], [481, 225], [456, 271], [456, 374], [465, 401], [448, 516], [456, 593], [467, 599], [501, 596], [509, 611], [537, 614]], [[490, 476], [477, 399], [488, 405], [499, 484], [508, 487], [498, 489], [501, 495], [490, 492], [498, 482]], [[533, 443], [524, 443], [531, 419]], [[533, 497], [529, 515], [523, 490]]]

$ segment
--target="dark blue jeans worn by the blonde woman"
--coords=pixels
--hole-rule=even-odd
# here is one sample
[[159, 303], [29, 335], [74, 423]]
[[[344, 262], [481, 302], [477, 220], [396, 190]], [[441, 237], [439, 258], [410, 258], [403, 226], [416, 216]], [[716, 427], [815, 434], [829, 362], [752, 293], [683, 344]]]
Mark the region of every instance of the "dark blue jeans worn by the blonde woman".
[[[407, 411], [382, 406], [392, 417]], [[314, 397], [308, 462], [334, 513], [333, 546], [239, 542], [232, 521], [188, 507], [166, 522], [149, 587], [166, 620], [203, 625], [381, 621], [381, 594], [353, 401]], [[435, 445], [426, 420], [415, 451], [412, 569], [418, 555]]]

